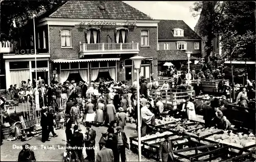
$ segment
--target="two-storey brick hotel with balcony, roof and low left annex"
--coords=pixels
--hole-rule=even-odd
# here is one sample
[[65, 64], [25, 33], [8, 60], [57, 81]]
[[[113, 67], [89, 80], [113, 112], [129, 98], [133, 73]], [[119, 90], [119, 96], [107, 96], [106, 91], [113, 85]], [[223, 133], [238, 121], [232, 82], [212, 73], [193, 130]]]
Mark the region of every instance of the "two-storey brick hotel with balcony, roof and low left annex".
[[[140, 76], [150, 80], [157, 75], [158, 22], [121, 1], [63, 3], [35, 18], [37, 77], [131, 84], [137, 72], [129, 58], [139, 55], [146, 58]], [[32, 22], [22, 33], [16, 52], [4, 55], [7, 87], [35, 78]]]

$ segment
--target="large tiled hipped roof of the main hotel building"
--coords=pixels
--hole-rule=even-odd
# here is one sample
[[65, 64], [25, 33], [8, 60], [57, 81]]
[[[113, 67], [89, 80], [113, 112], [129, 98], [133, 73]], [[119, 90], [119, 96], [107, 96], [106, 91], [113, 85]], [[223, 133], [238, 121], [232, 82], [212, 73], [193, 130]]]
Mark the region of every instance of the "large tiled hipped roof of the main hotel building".
[[68, 1], [37, 17], [153, 20], [122, 1]]

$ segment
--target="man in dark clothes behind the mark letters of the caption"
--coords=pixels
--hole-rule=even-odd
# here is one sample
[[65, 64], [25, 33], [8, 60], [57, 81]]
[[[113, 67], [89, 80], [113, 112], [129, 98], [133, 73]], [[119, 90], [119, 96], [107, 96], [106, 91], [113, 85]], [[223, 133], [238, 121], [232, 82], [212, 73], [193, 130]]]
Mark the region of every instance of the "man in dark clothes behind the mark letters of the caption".
[[93, 130], [92, 124], [88, 123], [86, 139], [84, 139], [84, 145], [87, 147], [87, 149], [86, 149], [87, 157], [86, 158], [89, 160], [89, 162], [95, 161], [95, 151], [94, 151], [95, 137], [96, 137], [96, 131]]

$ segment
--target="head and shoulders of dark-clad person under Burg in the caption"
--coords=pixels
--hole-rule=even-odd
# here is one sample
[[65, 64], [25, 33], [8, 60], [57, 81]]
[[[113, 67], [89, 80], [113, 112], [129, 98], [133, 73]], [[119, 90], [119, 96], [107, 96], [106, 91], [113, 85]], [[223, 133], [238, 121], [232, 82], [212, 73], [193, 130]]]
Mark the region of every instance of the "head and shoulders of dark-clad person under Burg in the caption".
[[19, 152], [17, 161], [36, 161], [34, 152], [30, 150], [31, 146], [25, 144], [22, 147], [23, 150]]

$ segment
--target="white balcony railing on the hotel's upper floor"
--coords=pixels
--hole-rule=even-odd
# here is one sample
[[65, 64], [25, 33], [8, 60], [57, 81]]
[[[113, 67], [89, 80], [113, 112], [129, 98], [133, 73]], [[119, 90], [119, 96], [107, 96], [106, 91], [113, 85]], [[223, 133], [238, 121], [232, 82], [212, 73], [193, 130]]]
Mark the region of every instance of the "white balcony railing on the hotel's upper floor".
[[139, 43], [79, 43], [80, 53], [138, 52]]

